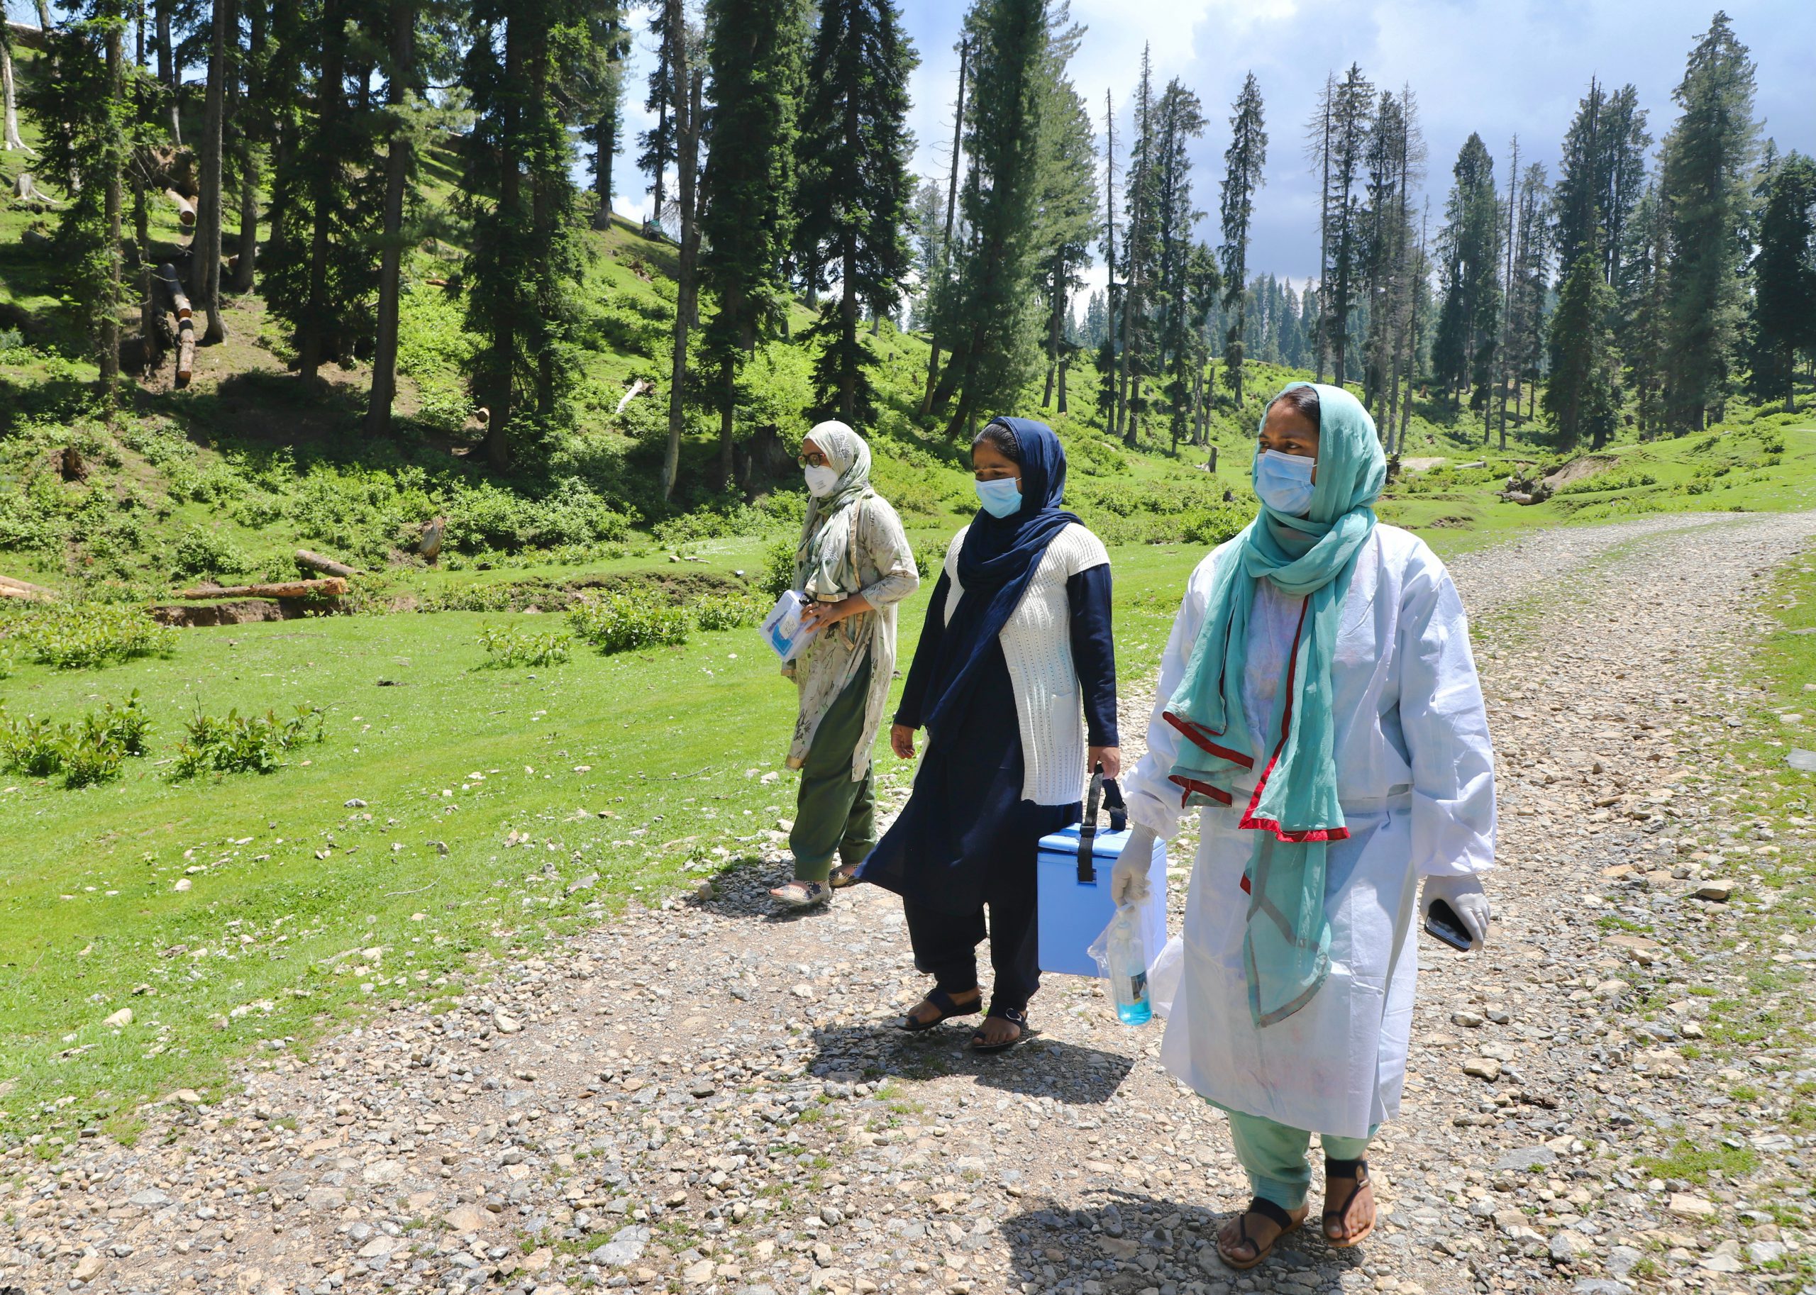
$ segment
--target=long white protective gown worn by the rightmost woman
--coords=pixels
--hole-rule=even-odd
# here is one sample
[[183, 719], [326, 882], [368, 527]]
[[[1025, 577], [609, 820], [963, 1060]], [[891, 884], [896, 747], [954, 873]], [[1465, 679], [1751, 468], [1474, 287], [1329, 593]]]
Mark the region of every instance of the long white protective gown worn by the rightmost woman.
[[[1182, 792], [1168, 781], [1180, 734], [1160, 717], [1204, 625], [1211, 552], [1186, 587], [1160, 663], [1148, 754], [1124, 777], [1130, 817], [1171, 839]], [[1262, 734], [1286, 676], [1300, 599], [1262, 579], [1249, 618], [1244, 710]], [[1228, 1110], [1291, 1128], [1367, 1137], [1400, 1110], [1413, 1023], [1418, 879], [1495, 863], [1495, 756], [1456, 587], [1416, 536], [1377, 525], [1355, 561], [1331, 663], [1337, 792], [1347, 841], [1329, 845], [1324, 903], [1331, 972], [1278, 1024], [1249, 1017], [1242, 870], [1255, 832], [1235, 806], [1200, 810], [1186, 899], [1184, 966], [1160, 1064]], [[1257, 741], [1257, 748], [1262, 743]]]

